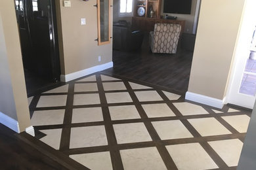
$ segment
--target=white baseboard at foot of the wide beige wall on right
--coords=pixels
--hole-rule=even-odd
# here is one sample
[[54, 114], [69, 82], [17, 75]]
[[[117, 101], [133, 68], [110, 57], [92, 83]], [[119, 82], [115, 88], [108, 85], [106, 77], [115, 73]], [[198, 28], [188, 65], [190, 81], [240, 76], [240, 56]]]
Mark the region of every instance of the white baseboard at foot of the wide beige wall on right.
[[208, 97], [206, 95], [201, 95], [192, 92], [186, 92], [186, 100], [194, 101], [197, 103], [202, 103], [204, 105], [209, 105], [211, 107], [217, 107], [219, 109], [223, 108], [224, 101], [221, 99], [215, 99], [213, 97]]

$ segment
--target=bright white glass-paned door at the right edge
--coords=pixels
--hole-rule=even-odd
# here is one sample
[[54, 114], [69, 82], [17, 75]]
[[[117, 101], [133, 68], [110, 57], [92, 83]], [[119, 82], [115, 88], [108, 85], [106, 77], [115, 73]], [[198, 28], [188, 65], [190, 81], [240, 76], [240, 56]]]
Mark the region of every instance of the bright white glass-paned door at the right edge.
[[245, 12], [234, 53], [234, 68], [228, 92], [228, 103], [253, 109], [256, 99], [256, 46], [254, 0], [246, 1]]

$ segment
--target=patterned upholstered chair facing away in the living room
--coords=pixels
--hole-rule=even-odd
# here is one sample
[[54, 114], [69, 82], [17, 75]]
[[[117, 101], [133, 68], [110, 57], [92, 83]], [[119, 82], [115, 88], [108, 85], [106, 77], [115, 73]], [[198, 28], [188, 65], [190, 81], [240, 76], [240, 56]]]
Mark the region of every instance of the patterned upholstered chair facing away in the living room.
[[150, 32], [150, 48], [153, 53], [175, 54], [181, 33], [179, 24], [155, 24]]

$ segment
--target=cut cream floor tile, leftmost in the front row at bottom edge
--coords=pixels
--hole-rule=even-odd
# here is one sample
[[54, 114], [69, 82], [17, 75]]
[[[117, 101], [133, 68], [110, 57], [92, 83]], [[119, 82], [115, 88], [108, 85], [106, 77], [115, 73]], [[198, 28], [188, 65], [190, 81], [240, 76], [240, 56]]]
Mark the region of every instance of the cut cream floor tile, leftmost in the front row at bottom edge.
[[93, 170], [111, 170], [110, 152], [95, 152], [89, 154], [70, 155], [70, 158]]

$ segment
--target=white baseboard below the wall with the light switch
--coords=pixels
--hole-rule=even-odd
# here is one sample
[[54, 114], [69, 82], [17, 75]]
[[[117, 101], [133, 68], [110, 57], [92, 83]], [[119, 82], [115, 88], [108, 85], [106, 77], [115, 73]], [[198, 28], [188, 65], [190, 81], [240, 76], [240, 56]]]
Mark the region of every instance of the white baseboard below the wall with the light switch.
[[102, 65], [96, 65], [95, 67], [90, 67], [88, 69], [84, 69], [81, 71], [77, 71], [75, 73], [70, 73], [68, 75], [60, 75], [60, 81], [61, 82], [68, 82], [70, 80], [74, 80], [76, 78], [80, 78], [82, 76], [87, 76], [93, 73], [96, 73], [98, 71], [102, 71], [104, 69], [109, 69], [113, 67], [113, 62], [109, 62], [109, 63], [104, 63]]

